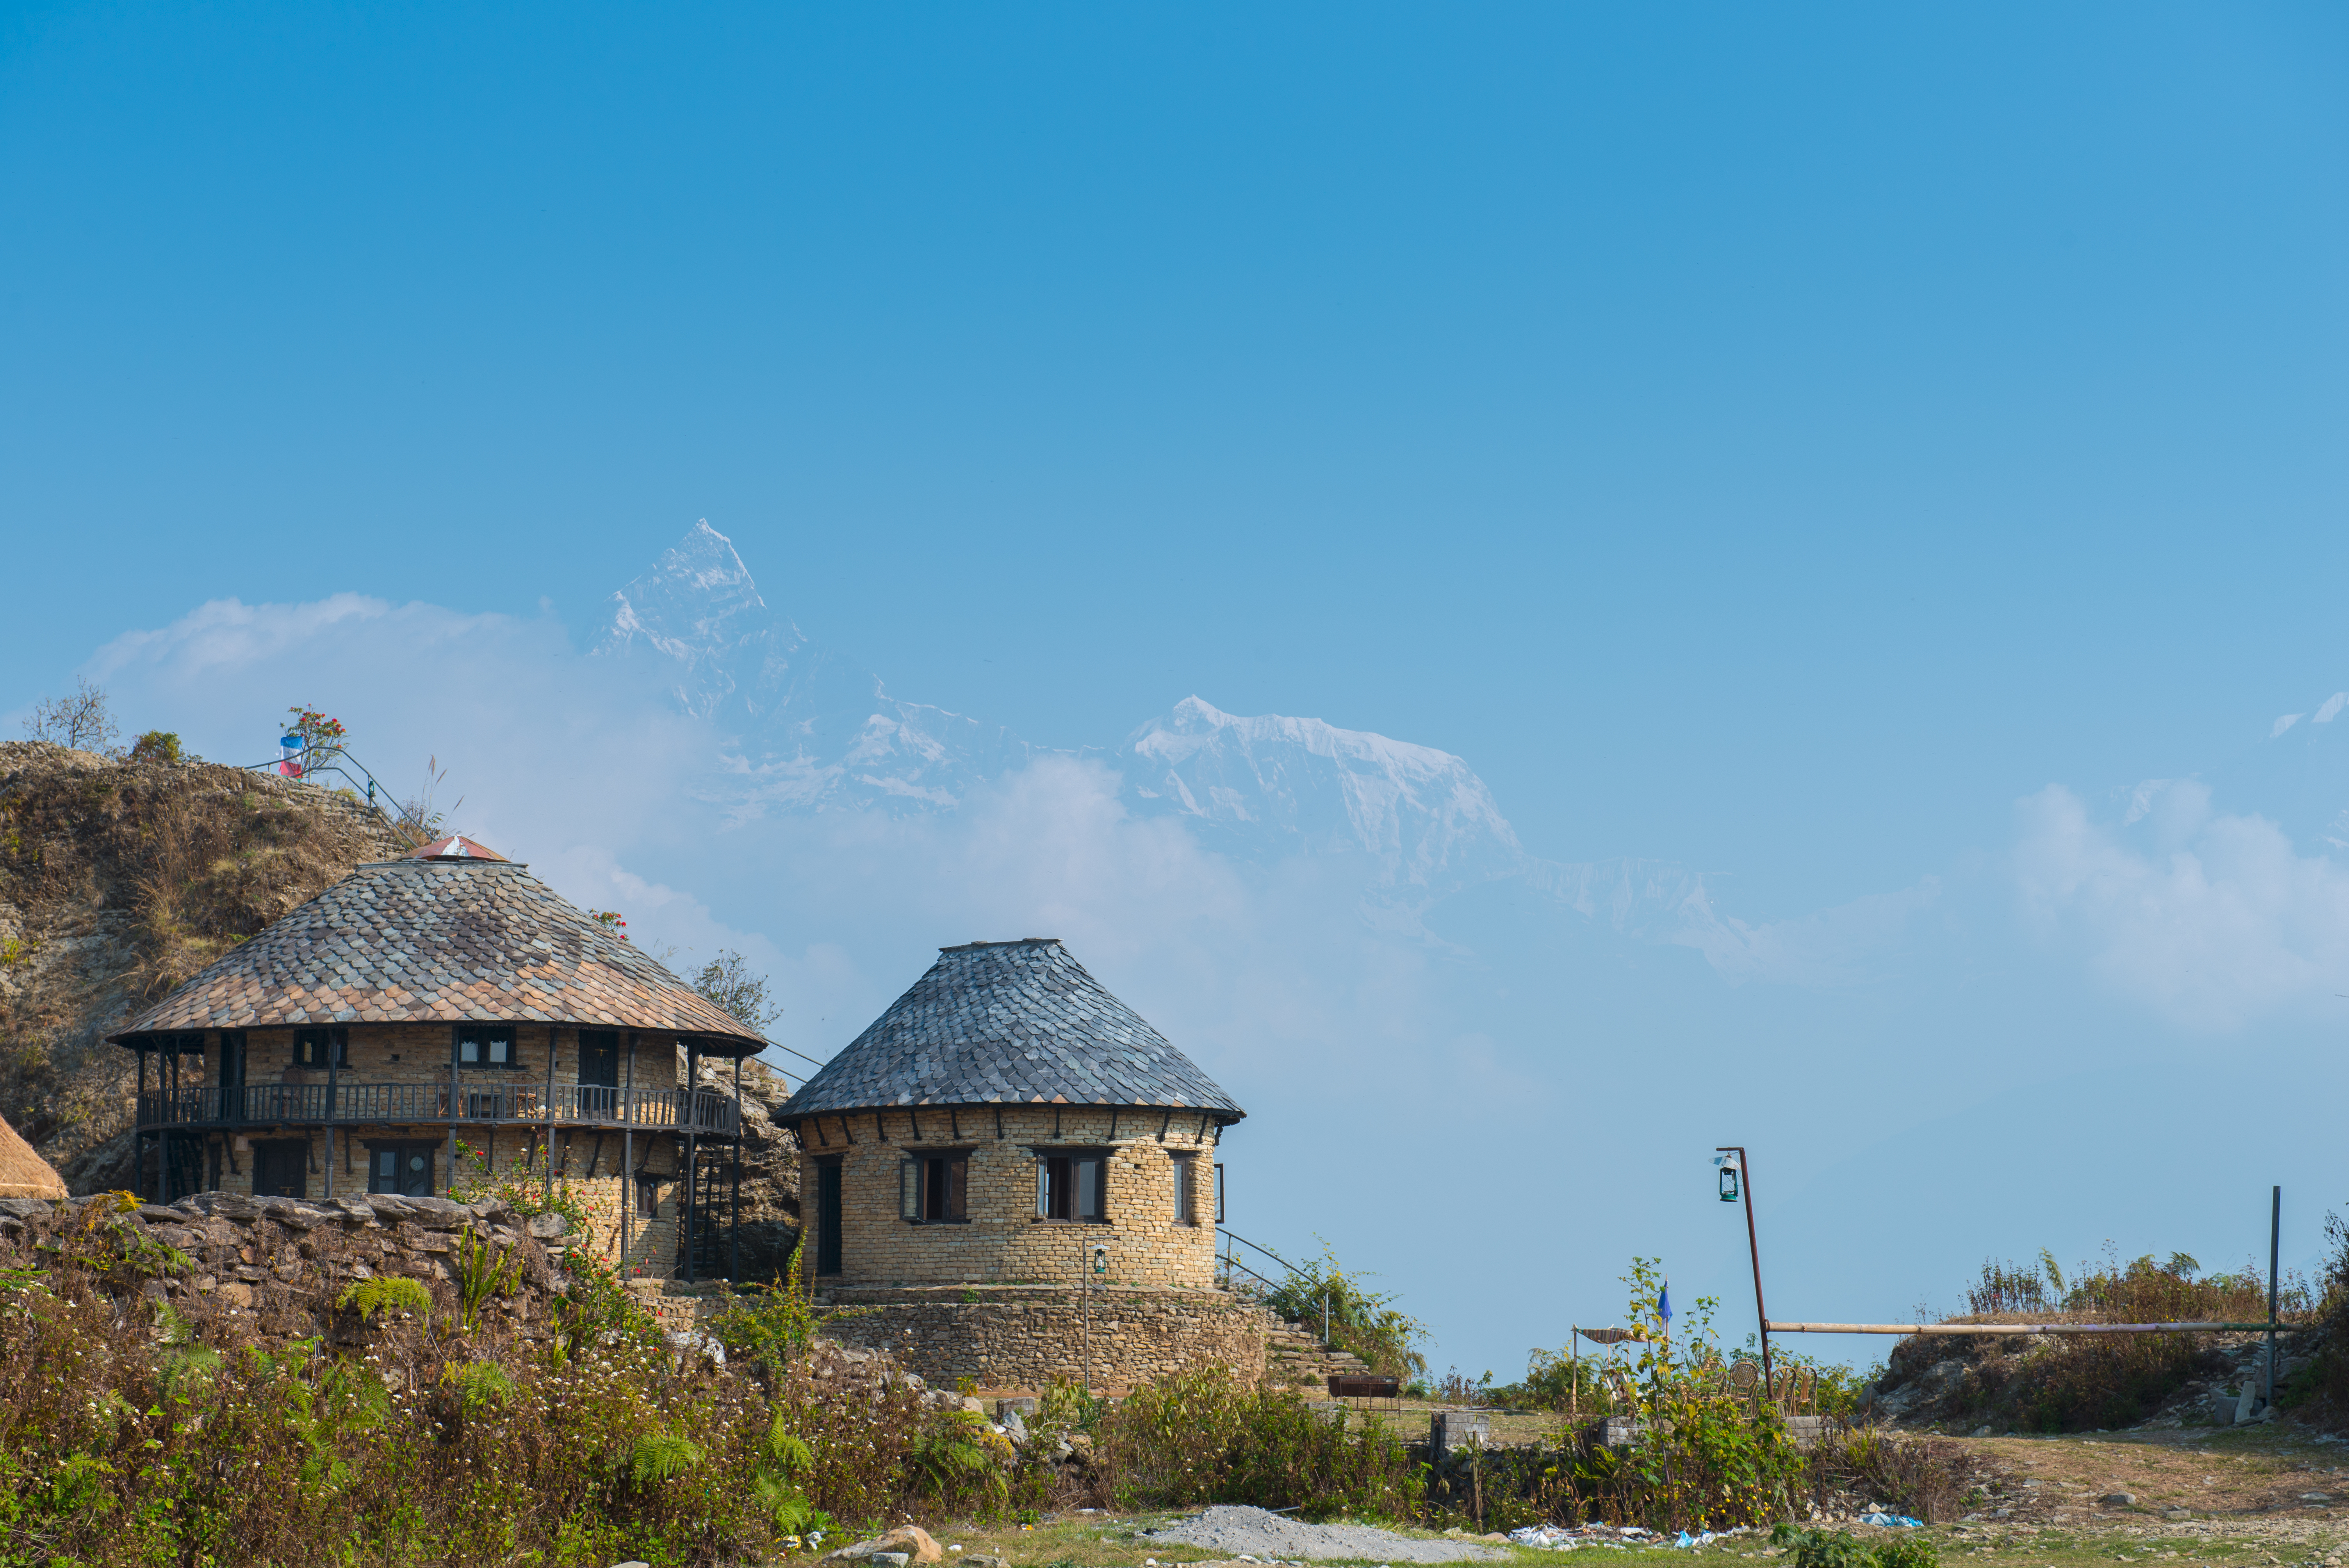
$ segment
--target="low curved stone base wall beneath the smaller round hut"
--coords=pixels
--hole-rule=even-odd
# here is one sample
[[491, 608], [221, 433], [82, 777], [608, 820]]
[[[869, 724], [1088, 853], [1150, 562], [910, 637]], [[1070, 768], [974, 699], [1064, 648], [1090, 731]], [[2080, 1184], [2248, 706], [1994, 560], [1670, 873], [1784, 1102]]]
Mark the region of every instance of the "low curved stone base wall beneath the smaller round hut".
[[824, 1336], [886, 1350], [933, 1387], [970, 1378], [984, 1394], [1038, 1394], [1055, 1378], [1113, 1394], [1165, 1373], [1224, 1366], [1264, 1378], [1271, 1322], [1229, 1291], [1062, 1286], [836, 1289], [848, 1307]]

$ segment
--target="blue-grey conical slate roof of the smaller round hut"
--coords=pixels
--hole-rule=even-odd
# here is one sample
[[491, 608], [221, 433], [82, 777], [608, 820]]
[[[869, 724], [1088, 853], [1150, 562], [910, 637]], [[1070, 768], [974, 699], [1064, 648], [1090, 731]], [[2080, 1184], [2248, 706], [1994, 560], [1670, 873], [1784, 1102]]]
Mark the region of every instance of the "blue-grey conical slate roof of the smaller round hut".
[[1050, 937], [940, 948], [930, 972], [775, 1120], [883, 1106], [1240, 1110]]

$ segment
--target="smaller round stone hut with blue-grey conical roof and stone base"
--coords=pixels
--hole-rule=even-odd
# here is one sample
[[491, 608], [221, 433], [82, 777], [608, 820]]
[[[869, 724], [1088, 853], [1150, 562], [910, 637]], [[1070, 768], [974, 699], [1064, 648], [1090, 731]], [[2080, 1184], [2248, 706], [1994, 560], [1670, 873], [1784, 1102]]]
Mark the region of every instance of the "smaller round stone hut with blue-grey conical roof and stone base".
[[937, 962], [778, 1113], [832, 1333], [933, 1383], [1130, 1387], [1264, 1317], [1217, 1289], [1217, 1145], [1247, 1113], [1050, 937]]

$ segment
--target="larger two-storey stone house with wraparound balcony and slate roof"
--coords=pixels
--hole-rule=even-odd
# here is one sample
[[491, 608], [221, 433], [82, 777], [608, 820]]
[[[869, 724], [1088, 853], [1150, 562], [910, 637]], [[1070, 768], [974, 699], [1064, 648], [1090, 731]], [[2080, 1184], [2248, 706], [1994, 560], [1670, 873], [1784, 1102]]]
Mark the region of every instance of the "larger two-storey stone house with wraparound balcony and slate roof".
[[110, 1040], [139, 1054], [141, 1197], [564, 1181], [630, 1275], [733, 1272], [763, 1040], [470, 838], [357, 866]]

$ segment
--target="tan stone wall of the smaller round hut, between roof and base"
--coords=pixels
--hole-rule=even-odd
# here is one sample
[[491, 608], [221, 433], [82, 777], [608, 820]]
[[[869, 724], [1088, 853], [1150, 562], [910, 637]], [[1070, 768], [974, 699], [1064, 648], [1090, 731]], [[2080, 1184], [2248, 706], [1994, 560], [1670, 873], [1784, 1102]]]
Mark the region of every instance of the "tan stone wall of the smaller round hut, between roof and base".
[[[841, 1272], [848, 1286], [1097, 1284], [1212, 1291], [1214, 1124], [1196, 1110], [1092, 1106], [956, 1106], [808, 1117], [799, 1131], [803, 1211], [815, 1167], [841, 1167]], [[853, 1138], [853, 1143], [850, 1143]], [[1106, 1153], [1104, 1221], [1036, 1218], [1041, 1155]], [[968, 1153], [965, 1223], [900, 1216], [897, 1167], [907, 1157]], [[1193, 1162], [1189, 1216], [1174, 1214], [1174, 1160]], [[926, 1373], [928, 1376], [928, 1373]]]

